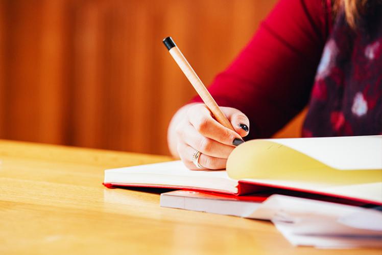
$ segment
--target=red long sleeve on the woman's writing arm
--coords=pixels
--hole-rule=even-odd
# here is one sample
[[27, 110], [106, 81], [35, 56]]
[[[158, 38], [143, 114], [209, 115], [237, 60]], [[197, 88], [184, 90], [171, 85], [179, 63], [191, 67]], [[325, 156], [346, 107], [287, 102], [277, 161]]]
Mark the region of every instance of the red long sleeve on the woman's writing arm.
[[209, 86], [220, 106], [247, 115], [249, 138], [271, 136], [307, 104], [328, 36], [327, 17], [322, 0], [281, 0]]

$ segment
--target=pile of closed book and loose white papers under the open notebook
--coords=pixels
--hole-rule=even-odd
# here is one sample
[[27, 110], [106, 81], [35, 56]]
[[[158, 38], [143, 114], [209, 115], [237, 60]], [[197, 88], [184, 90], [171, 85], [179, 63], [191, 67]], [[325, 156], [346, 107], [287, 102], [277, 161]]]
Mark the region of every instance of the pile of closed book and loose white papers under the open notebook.
[[371, 208], [284, 195], [271, 195], [262, 203], [261, 197], [256, 202], [240, 201], [194, 191], [163, 193], [160, 204], [164, 207], [270, 220], [296, 246], [382, 247], [382, 212]]

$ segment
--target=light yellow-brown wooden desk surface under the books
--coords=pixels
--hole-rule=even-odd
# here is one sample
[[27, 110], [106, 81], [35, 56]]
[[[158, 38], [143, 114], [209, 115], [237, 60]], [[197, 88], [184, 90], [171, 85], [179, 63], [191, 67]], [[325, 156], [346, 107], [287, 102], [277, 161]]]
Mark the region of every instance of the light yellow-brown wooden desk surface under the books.
[[0, 254], [381, 254], [293, 247], [265, 221], [159, 206], [107, 189], [107, 168], [168, 157], [0, 140]]

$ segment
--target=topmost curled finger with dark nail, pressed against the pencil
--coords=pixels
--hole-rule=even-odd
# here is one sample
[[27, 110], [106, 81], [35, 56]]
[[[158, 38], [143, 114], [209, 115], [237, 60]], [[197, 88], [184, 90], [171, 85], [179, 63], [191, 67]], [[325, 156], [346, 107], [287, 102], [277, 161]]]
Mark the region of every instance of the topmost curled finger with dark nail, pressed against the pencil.
[[236, 146], [242, 141], [242, 137], [238, 133], [213, 119], [210, 111], [203, 104], [190, 107], [187, 115], [190, 124], [207, 138], [229, 146]]

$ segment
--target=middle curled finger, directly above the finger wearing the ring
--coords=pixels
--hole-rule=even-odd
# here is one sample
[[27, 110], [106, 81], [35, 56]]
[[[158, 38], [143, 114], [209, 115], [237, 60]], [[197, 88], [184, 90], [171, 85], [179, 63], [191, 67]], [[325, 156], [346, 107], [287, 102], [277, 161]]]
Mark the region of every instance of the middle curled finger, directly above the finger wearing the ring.
[[203, 136], [191, 124], [182, 126], [178, 133], [181, 141], [208, 156], [228, 158], [234, 149], [233, 146], [225, 145]]

